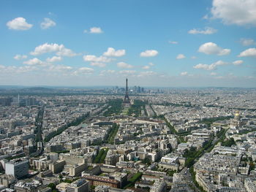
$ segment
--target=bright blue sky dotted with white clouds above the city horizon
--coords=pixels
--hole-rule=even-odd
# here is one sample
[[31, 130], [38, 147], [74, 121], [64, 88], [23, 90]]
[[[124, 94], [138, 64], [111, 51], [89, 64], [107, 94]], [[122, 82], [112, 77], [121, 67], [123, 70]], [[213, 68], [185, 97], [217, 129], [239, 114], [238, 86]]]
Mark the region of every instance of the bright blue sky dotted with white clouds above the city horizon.
[[3, 0], [0, 84], [128, 77], [142, 86], [256, 87], [255, 9], [254, 0]]

